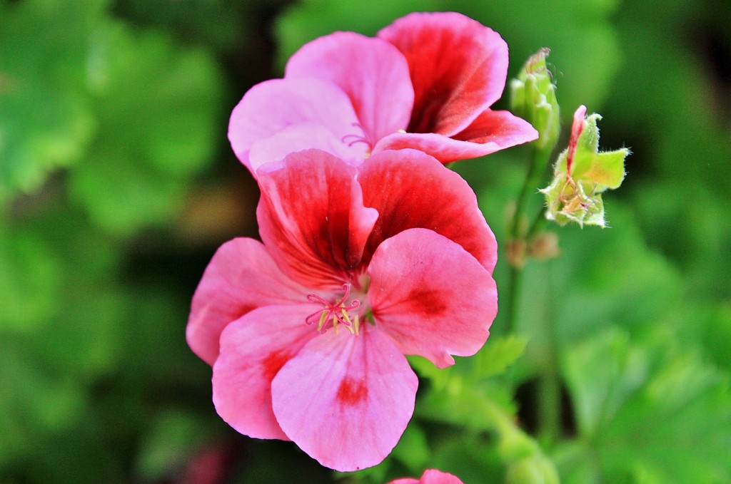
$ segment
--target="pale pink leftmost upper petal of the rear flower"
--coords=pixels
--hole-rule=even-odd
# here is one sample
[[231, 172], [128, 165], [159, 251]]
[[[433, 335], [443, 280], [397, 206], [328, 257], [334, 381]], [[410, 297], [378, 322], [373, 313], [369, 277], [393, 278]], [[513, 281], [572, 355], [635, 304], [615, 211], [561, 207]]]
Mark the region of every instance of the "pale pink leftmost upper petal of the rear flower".
[[335, 139], [344, 139], [357, 132], [357, 121], [348, 96], [331, 82], [273, 79], [255, 85], [239, 101], [231, 113], [228, 136], [234, 153], [252, 170], [249, 150], [254, 142], [287, 126], [317, 123]]

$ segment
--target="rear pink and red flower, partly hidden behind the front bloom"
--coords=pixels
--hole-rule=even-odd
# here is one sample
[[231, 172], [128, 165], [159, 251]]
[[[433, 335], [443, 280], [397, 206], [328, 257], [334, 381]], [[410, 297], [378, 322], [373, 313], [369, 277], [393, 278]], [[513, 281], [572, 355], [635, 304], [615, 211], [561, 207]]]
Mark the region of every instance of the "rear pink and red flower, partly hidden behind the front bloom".
[[408, 147], [442, 163], [488, 155], [538, 137], [490, 109], [507, 64], [499, 34], [455, 12], [406, 15], [376, 38], [336, 32], [292, 55], [284, 79], [251, 88], [229, 139], [252, 172], [311, 147], [355, 165]]

